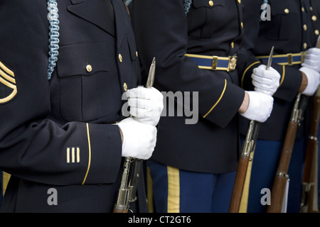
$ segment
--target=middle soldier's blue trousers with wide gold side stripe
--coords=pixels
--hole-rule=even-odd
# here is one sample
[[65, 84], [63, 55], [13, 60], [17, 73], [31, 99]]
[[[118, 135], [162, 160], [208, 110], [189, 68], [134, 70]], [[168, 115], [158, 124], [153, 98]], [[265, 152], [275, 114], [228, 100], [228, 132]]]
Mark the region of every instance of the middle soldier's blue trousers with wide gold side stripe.
[[235, 172], [208, 174], [178, 170], [148, 160], [154, 211], [157, 213], [226, 213]]

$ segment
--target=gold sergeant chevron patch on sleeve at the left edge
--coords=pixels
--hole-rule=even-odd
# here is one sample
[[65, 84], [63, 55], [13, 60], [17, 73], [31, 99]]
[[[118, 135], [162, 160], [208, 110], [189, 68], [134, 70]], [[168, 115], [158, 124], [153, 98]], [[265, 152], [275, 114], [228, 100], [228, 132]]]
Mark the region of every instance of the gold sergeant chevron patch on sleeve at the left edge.
[[17, 92], [14, 72], [0, 61], [0, 104], [14, 99]]

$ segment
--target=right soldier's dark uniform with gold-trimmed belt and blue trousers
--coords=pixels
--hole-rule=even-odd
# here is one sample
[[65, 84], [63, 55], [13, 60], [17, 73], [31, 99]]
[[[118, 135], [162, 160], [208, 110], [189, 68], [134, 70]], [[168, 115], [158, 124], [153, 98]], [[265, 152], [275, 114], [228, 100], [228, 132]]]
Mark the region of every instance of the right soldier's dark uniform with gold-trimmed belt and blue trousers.
[[[299, 71], [304, 54], [308, 48], [315, 45], [311, 41], [309, 31], [311, 25], [311, 5], [309, 0], [277, 1], [270, 0], [270, 20], [261, 17], [261, 6], [264, 1], [243, 0], [245, 41], [244, 45], [256, 60], [245, 62], [247, 68], [242, 75], [243, 86], [250, 84], [253, 67], [267, 62], [267, 55], [274, 46], [272, 67], [280, 75], [280, 86], [274, 93], [274, 108], [270, 118], [260, 126], [260, 131], [252, 162], [250, 192], [247, 204], [248, 212], [264, 212], [267, 209], [260, 203], [261, 189], [272, 189], [277, 170], [282, 142], [287, 131], [287, 123], [292, 113], [294, 101], [302, 82], [302, 72]], [[240, 57], [244, 59], [244, 57]], [[245, 87], [250, 89], [250, 87]], [[288, 212], [299, 211], [300, 194], [302, 190], [302, 162], [306, 133], [309, 120], [308, 109], [304, 113], [304, 121], [297, 129], [297, 136], [289, 167], [289, 201]], [[241, 118], [240, 132], [245, 135], [247, 120]]]

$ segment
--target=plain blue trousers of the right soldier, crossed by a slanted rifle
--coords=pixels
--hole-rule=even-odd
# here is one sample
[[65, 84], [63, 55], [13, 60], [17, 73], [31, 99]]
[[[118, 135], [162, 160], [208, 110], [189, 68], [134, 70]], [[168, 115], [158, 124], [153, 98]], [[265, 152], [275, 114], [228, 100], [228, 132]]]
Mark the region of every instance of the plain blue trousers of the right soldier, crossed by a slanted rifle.
[[[263, 188], [270, 189], [270, 191], [272, 190], [282, 145], [282, 141], [257, 140], [252, 162], [249, 196], [247, 201], [248, 213], [265, 213], [267, 210], [267, 205], [262, 205], [260, 201], [262, 196], [265, 195], [264, 193], [262, 194], [261, 190]], [[299, 212], [305, 148], [304, 139], [295, 140], [288, 170], [289, 194], [287, 213]]]

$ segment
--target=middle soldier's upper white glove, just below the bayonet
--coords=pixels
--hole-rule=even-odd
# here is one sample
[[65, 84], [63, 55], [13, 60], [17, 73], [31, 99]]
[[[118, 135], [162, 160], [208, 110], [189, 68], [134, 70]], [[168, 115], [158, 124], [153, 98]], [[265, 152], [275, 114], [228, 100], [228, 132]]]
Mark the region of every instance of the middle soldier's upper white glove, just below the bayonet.
[[270, 67], [266, 70], [266, 67], [266, 65], [260, 65], [253, 70], [252, 84], [255, 86], [255, 91], [272, 96], [279, 87], [280, 74], [274, 68]]

